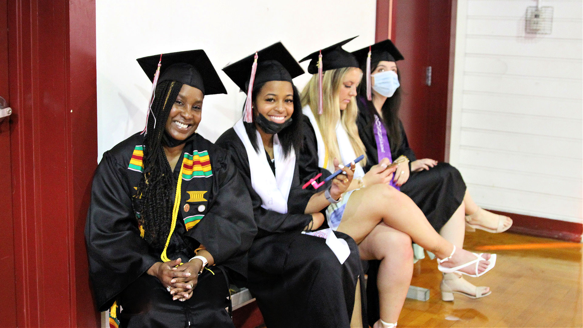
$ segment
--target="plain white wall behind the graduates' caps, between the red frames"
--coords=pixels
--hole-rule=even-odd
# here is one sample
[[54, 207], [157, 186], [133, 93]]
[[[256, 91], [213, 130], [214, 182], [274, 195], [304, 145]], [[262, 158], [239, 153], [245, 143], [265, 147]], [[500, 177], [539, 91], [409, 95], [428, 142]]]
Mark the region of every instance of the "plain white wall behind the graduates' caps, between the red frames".
[[[136, 58], [204, 49], [229, 95], [205, 97], [199, 133], [215, 141], [241, 117], [244, 95], [220, 71], [277, 41], [300, 60], [333, 43], [374, 42], [375, 0], [97, 0], [97, 131], [104, 151], [141, 131], [152, 83]], [[307, 62], [302, 63], [304, 69]], [[294, 80], [303, 88], [310, 75]]]

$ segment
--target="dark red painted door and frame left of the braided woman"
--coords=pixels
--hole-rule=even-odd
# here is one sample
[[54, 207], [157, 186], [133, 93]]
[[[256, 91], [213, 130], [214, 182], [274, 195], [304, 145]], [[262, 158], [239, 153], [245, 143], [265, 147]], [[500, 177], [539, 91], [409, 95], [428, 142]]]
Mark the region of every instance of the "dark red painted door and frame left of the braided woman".
[[83, 229], [97, 159], [94, 0], [8, 0], [19, 327], [96, 327]]

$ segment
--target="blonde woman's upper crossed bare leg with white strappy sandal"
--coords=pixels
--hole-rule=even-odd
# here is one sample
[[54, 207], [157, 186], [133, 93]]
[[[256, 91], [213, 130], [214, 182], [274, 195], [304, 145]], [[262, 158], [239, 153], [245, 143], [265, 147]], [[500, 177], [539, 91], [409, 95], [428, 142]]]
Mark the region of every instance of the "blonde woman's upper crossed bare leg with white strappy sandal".
[[[381, 221], [406, 233], [415, 243], [436, 254], [440, 259], [450, 256], [454, 249], [452, 243], [433, 229], [411, 198], [386, 184], [375, 184], [354, 191], [346, 204], [338, 230], [347, 233], [360, 243]], [[486, 261], [480, 261], [477, 273], [482, 273], [489, 265], [487, 260], [490, 259], [490, 254], [483, 254], [483, 257]], [[451, 259], [441, 265], [455, 267], [475, 259], [472, 253], [459, 249]], [[476, 273], [475, 266], [464, 267], [461, 271]]]

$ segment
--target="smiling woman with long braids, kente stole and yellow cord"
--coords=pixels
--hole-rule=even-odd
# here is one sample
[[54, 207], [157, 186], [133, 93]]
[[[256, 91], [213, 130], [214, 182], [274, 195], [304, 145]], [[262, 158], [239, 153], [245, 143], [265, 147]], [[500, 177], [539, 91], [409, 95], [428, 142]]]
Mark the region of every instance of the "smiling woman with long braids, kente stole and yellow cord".
[[233, 327], [227, 273], [247, 273], [257, 227], [227, 152], [196, 134], [203, 97], [226, 90], [203, 50], [138, 62], [155, 85], [146, 129], [103, 154], [87, 214], [97, 308], [113, 326]]

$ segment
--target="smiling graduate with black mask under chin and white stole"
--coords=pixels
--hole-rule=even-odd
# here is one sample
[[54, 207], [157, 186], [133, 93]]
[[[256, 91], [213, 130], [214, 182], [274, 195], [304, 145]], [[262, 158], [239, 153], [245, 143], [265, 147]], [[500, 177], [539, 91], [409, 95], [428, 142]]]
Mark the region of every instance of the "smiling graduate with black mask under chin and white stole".
[[[217, 145], [229, 149], [251, 193], [258, 234], [249, 251], [248, 287], [266, 326], [349, 327], [352, 318], [355, 326], [367, 327], [361, 321], [366, 306], [355, 296], [364, 285], [354, 240], [330, 229], [323, 232], [327, 239], [302, 233], [324, 222], [319, 211], [330, 204], [325, 193], [338, 198], [352, 179], [347, 172], [318, 190], [302, 189], [317, 173], [317, 182], [330, 175], [315, 162], [311, 170], [298, 168], [305, 118], [291, 79], [303, 69], [276, 43], [223, 71], [249, 95], [244, 117]], [[347, 257], [341, 262], [327, 242], [340, 244], [335, 247]]]

